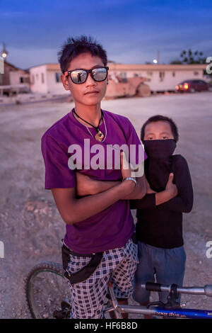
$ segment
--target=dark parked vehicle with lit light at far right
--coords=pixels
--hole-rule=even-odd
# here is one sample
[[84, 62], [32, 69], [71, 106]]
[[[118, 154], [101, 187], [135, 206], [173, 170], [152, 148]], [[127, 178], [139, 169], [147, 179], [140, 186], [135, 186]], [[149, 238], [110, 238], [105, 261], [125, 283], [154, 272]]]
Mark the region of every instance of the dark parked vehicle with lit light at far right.
[[212, 85], [204, 80], [186, 80], [177, 84], [176, 90], [190, 93], [194, 93], [194, 91], [212, 91]]

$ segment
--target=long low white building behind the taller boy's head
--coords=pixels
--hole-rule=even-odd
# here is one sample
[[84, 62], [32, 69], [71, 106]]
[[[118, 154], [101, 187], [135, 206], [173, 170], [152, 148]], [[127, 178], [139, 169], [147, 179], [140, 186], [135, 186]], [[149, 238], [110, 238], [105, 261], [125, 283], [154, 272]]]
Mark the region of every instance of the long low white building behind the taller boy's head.
[[[205, 79], [205, 64], [108, 64], [110, 74], [124, 78], [146, 77], [151, 91], [174, 91], [187, 79]], [[31, 91], [37, 93], [70, 94], [61, 84], [59, 64], [42, 64], [30, 68]]]

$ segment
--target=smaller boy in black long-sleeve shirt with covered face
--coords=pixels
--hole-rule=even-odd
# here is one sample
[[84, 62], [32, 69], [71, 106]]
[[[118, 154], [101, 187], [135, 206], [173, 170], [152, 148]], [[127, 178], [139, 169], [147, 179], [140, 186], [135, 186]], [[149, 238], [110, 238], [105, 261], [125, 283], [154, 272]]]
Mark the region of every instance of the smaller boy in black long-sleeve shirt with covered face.
[[[182, 286], [184, 278], [182, 213], [192, 210], [193, 189], [186, 159], [172, 155], [177, 140], [177, 126], [163, 115], [149, 118], [141, 128], [141, 141], [148, 155], [144, 162], [148, 191], [142, 199], [130, 201], [130, 208], [137, 209], [139, 241], [133, 298], [141, 305], [146, 305], [150, 297], [150, 292], [141, 289], [141, 283], [154, 282], [154, 274], [158, 283], [167, 285]], [[174, 176], [178, 193], [161, 203], [160, 192], [166, 190], [169, 176]], [[166, 303], [167, 293], [159, 293], [159, 299]]]

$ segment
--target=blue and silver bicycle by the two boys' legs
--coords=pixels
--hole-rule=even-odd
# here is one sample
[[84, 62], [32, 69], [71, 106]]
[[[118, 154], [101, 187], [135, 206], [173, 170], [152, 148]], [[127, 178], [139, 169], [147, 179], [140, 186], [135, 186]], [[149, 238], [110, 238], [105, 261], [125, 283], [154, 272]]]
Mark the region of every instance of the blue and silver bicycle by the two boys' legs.
[[[69, 319], [71, 302], [69, 300], [69, 283], [64, 277], [61, 264], [46, 261], [33, 267], [25, 281], [25, 295], [30, 314], [35, 319]], [[181, 287], [177, 285], [164, 286], [160, 283], [145, 283], [142, 288], [150, 291], [167, 291], [167, 303], [153, 302], [147, 307], [141, 305], [119, 305], [114, 295], [112, 282], [108, 284], [110, 300], [105, 305], [104, 317], [114, 312], [117, 319], [122, 319], [122, 313], [155, 315], [175, 318], [212, 319], [212, 310], [196, 310], [182, 308], [177, 303], [179, 293], [207, 295], [212, 297], [212, 285], [204, 287]], [[52, 290], [53, 288], [53, 290]], [[155, 306], [157, 305], [157, 306]]]

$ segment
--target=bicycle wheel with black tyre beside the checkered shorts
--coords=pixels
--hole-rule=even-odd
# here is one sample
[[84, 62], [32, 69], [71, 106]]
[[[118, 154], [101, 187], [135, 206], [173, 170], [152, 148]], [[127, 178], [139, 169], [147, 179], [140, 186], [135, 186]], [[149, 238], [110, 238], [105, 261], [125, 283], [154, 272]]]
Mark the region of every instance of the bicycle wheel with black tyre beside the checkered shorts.
[[60, 264], [47, 261], [34, 266], [25, 281], [25, 295], [35, 319], [70, 316], [69, 283]]

